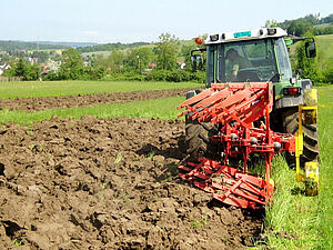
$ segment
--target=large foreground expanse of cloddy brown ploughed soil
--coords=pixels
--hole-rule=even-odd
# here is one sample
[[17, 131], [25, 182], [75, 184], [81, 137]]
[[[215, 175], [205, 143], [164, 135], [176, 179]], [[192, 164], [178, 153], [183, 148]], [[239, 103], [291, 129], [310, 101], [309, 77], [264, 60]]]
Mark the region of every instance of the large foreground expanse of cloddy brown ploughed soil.
[[243, 249], [259, 211], [180, 180], [183, 121], [58, 119], [0, 129], [0, 249]]

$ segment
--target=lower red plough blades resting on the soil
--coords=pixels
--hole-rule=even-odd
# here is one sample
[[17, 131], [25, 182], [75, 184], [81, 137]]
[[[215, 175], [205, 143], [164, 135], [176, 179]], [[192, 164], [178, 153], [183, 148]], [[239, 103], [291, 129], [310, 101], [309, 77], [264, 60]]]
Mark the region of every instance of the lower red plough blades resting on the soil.
[[214, 199], [241, 208], [262, 209], [271, 198], [272, 193], [269, 190], [273, 190], [273, 187], [262, 178], [220, 164], [218, 161], [199, 160], [196, 164], [188, 162], [186, 166], [179, 166], [179, 176], [211, 192]]

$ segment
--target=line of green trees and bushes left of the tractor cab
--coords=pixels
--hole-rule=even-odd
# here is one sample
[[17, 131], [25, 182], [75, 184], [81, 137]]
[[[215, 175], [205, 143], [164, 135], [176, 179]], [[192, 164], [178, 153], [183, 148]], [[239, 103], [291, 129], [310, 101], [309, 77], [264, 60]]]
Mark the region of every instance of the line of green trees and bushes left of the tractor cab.
[[[180, 47], [179, 39], [162, 33], [154, 46], [143, 46], [130, 50], [111, 50], [109, 56], [83, 56], [79, 49], [63, 50], [57, 70], [44, 70], [20, 58], [12, 62], [6, 77], [22, 80], [151, 80], [151, 81], [198, 81], [204, 82], [204, 71], [192, 72], [191, 49], [196, 46]], [[188, 66], [181, 70], [179, 60]]]

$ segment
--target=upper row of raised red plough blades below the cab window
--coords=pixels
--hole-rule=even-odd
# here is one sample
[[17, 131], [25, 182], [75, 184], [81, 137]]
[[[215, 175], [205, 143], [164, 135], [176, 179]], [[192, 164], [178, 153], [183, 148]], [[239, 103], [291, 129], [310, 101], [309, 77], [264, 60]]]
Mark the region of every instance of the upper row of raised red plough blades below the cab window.
[[213, 123], [225, 123], [238, 117], [241, 122], [248, 118], [249, 123], [259, 119], [259, 116], [253, 116], [253, 119], [249, 120], [249, 116], [245, 116], [251, 104], [260, 102], [258, 110], [268, 107], [271, 111], [272, 97], [272, 86], [269, 82], [212, 84], [210, 89], [181, 103], [178, 108], [186, 108], [186, 110], [179, 117], [186, 114], [189, 119]]

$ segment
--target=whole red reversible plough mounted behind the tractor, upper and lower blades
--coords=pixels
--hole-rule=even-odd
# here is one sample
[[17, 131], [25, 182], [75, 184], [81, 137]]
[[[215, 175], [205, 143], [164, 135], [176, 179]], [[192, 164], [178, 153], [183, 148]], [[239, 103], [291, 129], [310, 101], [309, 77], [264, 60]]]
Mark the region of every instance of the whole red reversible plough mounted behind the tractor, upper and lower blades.
[[[221, 163], [198, 159], [198, 163], [180, 164], [179, 176], [224, 203], [264, 208], [274, 190], [270, 180], [274, 153], [295, 151], [293, 136], [270, 129], [272, 97], [272, 84], [269, 82], [219, 83], [180, 104], [179, 109], [186, 110], [179, 117], [188, 116], [188, 119], [199, 122], [220, 124], [219, 134], [211, 139], [220, 142], [223, 150]], [[264, 156], [265, 179], [248, 173], [250, 153]], [[229, 166], [231, 158], [242, 159], [242, 171]]]

